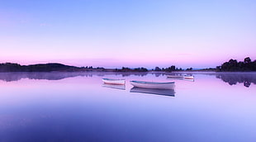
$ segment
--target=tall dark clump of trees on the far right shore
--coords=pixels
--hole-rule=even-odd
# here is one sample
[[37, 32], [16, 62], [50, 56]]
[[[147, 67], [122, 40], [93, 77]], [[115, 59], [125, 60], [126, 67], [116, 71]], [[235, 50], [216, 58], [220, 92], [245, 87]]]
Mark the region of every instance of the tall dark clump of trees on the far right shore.
[[256, 60], [252, 61], [249, 57], [243, 61], [237, 61], [236, 59], [230, 59], [228, 62], [216, 67], [216, 71], [219, 72], [249, 72], [256, 71]]

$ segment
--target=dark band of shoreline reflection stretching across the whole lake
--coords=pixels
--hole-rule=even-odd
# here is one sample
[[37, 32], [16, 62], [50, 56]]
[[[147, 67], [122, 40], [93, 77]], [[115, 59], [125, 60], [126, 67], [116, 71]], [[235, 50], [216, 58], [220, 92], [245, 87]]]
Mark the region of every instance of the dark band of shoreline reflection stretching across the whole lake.
[[[200, 72], [181, 72], [181, 73], [116, 73], [116, 72], [20, 72], [20, 73], [0, 73], [0, 80], [5, 82], [18, 81], [22, 78], [29, 79], [46, 79], [46, 80], [60, 80], [64, 78], [73, 78], [73, 77], [86, 77], [92, 78], [93, 76], [103, 77], [106, 75], [116, 75], [121, 77], [145, 77], [147, 75], [154, 75], [155, 78], [166, 78], [167, 75], [195, 75], [200, 74]], [[220, 78], [225, 83], [230, 85], [235, 85], [237, 83], [244, 83], [244, 87], [249, 88], [253, 83], [256, 84], [256, 73], [203, 73], [208, 75], [214, 75], [216, 78]], [[177, 78], [176, 78], [177, 79]], [[194, 81], [193, 79], [183, 79], [185, 81]]]

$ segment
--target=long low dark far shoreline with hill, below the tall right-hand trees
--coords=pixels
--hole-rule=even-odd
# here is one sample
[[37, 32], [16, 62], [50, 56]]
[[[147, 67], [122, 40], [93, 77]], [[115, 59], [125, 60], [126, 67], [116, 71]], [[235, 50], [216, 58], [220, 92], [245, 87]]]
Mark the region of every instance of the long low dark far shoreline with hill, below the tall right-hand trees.
[[121, 69], [105, 69], [103, 67], [93, 68], [92, 66], [76, 67], [71, 65], [59, 64], [59, 63], [48, 63], [48, 64], [30, 64], [21, 65], [17, 63], [5, 63], [0, 64], [0, 73], [15, 73], [15, 72], [116, 72], [116, 73], [250, 73], [255, 72], [253, 70], [222, 70], [222, 69], [178, 69], [175, 66], [171, 66], [163, 69], [146, 69], [144, 67], [139, 68], [127, 68], [122, 67]]

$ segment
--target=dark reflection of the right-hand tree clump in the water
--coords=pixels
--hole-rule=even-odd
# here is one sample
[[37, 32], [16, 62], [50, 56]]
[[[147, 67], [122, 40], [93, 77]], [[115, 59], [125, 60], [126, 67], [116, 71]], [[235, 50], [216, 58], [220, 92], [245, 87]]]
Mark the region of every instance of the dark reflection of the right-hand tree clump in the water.
[[244, 83], [246, 88], [249, 88], [251, 83], [256, 84], [256, 73], [217, 73], [216, 78], [220, 78], [230, 85]]

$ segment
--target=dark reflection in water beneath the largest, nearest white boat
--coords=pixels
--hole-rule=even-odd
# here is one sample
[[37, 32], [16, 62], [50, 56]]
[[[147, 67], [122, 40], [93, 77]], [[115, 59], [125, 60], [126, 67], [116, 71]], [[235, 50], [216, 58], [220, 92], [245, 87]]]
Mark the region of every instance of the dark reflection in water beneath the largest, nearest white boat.
[[156, 95], [164, 95], [169, 97], [174, 97], [174, 90], [173, 89], [153, 89], [153, 88], [131, 88], [130, 92], [140, 92], [140, 93], [149, 93], [149, 94], [156, 94]]

